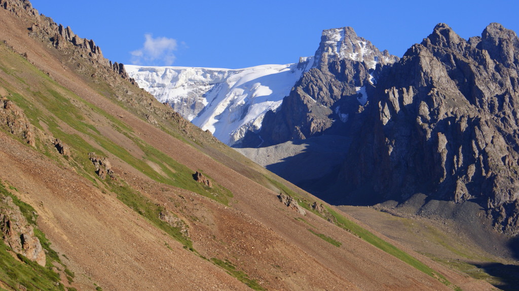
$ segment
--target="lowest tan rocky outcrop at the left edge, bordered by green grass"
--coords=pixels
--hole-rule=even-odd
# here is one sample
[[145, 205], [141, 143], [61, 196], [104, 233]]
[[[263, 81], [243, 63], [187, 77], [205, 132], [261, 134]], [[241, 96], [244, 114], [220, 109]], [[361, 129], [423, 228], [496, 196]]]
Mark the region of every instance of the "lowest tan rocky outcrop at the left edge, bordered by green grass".
[[9, 196], [0, 196], [0, 235], [13, 252], [45, 266], [45, 251], [34, 229]]

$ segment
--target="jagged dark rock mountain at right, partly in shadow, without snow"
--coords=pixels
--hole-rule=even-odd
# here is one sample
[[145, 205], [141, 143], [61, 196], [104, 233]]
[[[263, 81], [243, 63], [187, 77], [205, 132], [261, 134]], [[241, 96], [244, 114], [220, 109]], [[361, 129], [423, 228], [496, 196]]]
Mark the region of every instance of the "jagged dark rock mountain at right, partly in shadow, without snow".
[[519, 234], [518, 54], [499, 24], [468, 41], [439, 24], [381, 68], [338, 182], [345, 198], [471, 199]]

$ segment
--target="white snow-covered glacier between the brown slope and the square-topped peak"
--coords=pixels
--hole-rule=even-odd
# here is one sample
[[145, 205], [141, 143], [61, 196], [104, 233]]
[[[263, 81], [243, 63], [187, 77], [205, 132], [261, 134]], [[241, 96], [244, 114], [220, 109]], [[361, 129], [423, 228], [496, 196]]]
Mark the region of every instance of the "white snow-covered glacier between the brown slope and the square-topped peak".
[[232, 146], [249, 130], [259, 130], [268, 110], [276, 110], [313, 57], [299, 63], [243, 69], [125, 65], [130, 78], [185, 119]]

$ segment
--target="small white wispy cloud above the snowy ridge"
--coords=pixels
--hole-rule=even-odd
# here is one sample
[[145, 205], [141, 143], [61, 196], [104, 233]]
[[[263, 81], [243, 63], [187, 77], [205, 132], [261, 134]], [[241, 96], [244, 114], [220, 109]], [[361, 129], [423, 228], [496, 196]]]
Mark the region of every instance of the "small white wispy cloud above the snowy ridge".
[[144, 46], [130, 52], [133, 65], [162, 65], [171, 66], [175, 61], [177, 49], [176, 40], [167, 37], [153, 38], [151, 34], [144, 35]]

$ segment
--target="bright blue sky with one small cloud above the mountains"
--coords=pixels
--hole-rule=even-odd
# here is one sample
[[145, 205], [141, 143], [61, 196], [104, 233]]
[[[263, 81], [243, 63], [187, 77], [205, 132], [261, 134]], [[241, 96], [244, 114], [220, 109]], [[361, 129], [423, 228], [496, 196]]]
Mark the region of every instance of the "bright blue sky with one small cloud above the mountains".
[[444, 22], [461, 37], [490, 22], [519, 32], [519, 1], [31, 0], [40, 13], [131, 64], [244, 68], [313, 55], [322, 30], [351, 26], [402, 56]]

